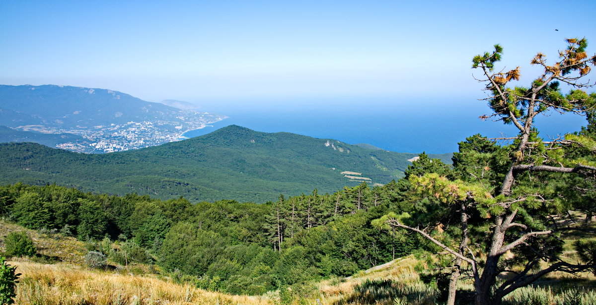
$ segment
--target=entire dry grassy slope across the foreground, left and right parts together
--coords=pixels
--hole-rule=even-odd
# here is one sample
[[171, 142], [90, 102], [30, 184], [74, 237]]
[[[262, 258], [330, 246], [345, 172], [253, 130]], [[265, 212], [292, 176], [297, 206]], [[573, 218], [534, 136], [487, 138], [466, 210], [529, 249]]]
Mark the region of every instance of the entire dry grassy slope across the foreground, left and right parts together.
[[[117, 271], [91, 270], [81, 266], [85, 253], [83, 242], [74, 238], [57, 235], [38, 234], [38, 232], [22, 228], [13, 223], [0, 220], [0, 240], [4, 240], [8, 232], [26, 231], [35, 241], [38, 251], [45, 256], [55, 257], [63, 262], [45, 264], [32, 262], [29, 259], [15, 258], [10, 264], [17, 266], [23, 273], [17, 285], [17, 304], [277, 304], [276, 293], [248, 297], [245, 295], [228, 295], [219, 292], [205, 291], [188, 284], [178, 284], [168, 278], [154, 274], [133, 275]], [[567, 243], [574, 237], [568, 236]], [[3, 248], [4, 244], [0, 244]], [[574, 259], [573, 251], [567, 251], [566, 257]], [[426, 258], [428, 259], [428, 258]], [[402, 300], [406, 304], [435, 304], [437, 290], [420, 281], [416, 266], [424, 266], [424, 260], [414, 255], [402, 257], [393, 262], [373, 267], [357, 273], [349, 278], [332, 278], [316, 283], [316, 289], [308, 296], [294, 300], [293, 304], [354, 304], [347, 301], [355, 287], [367, 280], [393, 281]], [[583, 273], [582, 277], [566, 273], [554, 273], [536, 282], [534, 287], [522, 288], [508, 296], [505, 304], [526, 304], [529, 298], [545, 300], [545, 304], [556, 304], [560, 295], [558, 290], [581, 288], [581, 297], [585, 300], [596, 300], [596, 277]], [[471, 282], [460, 281], [460, 288], [471, 289]], [[591, 292], [590, 292], [591, 291]], [[379, 304], [384, 304], [383, 302]], [[391, 304], [391, 303], [389, 303]]]

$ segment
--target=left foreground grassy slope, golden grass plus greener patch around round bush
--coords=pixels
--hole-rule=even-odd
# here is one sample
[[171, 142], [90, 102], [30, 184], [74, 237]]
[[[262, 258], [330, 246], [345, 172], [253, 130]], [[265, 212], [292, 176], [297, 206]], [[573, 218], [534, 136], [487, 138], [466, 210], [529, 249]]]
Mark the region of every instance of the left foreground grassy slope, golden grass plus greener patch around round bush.
[[[271, 298], [228, 295], [177, 284], [154, 274], [127, 274], [125, 270], [91, 270], [83, 265], [85, 245], [75, 238], [39, 234], [0, 220], [0, 241], [13, 231], [32, 237], [43, 263], [13, 258], [9, 264], [21, 273], [15, 304], [125, 305], [125, 304], [273, 304]], [[4, 242], [0, 242], [4, 250]], [[59, 263], [47, 264], [47, 260]]]

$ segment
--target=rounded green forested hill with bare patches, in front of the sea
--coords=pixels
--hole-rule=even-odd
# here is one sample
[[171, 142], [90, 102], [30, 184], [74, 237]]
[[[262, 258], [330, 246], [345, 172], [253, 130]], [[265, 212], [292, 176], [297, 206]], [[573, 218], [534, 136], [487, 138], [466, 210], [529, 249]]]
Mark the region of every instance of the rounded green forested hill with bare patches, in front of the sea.
[[[371, 150], [333, 139], [228, 126], [185, 141], [109, 154], [33, 143], [0, 144], [0, 183], [58, 183], [83, 191], [191, 201], [262, 203], [279, 194], [388, 183], [416, 154]], [[432, 155], [450, 161], [451, 154]]]

